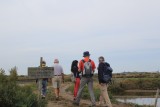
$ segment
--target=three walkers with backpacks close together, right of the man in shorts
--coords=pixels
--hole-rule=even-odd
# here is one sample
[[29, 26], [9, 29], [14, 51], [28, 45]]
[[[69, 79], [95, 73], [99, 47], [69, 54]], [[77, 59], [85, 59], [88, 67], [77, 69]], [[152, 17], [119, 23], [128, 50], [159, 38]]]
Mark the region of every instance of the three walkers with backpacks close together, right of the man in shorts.
[[[75, 86], [74, 86], [74, 101], [73, 104], [79, 106], [81, 95], [84, 87], [88, 86], [88, 91], [91, 97], [92, 107], [96, 106], [96, 100], [93, 91], [93, 74], [95, 72], [96, 66], [93, 60], [90, 59], [90, 53], [88, 51], [83, 53], [84, 59], [80, 60], [79, 64], [77, 60], [72, 62], [71, 71], [75, 76]], [[98, 58], [99, 65], [98, 69], [98, 80], [100, 84], [100, 106], [112, 107], [111, 101], [108, 96], [107, 87], [110, 80], [104, 80], [104, 76], [112, 77], [112, 68], [109, 63], [105, 62], [103, 56]], [[109, 69], [107, 71], [107, 68]], [[80, 76], [81, 73], [81, 76]], [[106, 74], [106, 75], [105, 75]], [[107, 78], [107, 77], [106, 77]], [[105, 103], [103, 103], [105, 102]]]

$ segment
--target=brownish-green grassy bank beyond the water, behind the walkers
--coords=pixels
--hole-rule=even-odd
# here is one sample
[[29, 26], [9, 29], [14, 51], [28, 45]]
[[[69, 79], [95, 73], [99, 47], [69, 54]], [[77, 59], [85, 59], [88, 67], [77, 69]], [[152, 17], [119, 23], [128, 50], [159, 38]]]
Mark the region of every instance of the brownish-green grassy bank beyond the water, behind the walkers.
[[[109, 91], [113, 95], [122, 95], [124, 94], [125, 90], [157, 90], [160, 88], [160, 78], [154, 78], [151, 76], [141, 75], [143, 78], [117, 78], [116, 75], [113, 76], [111, 85], [109, 87]], [[152, 75], [153, 76], [153, 75]], [[66, 82], [71, 82], [70, 76], [65, 76]], [[98, 84], [98, 77], [94, 75], [94, 83]], [[95, 87], [96, 90], [96, 87]]]

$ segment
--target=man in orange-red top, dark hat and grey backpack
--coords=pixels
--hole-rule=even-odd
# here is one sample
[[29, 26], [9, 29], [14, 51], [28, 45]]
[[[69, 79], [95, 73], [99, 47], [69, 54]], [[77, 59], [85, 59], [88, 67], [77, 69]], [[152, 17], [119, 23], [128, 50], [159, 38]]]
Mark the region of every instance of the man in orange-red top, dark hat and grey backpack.
[[96, 101], [95, 101], [95, 96], [94, 96], [94, 92], [93, 92], [93, 78], [92, 78], [92, 76], [94, 74], [96, 66], [95, 66], [94, 61], [92, 61], [90, 59], [90, 54], [88, 51], [83, 53], [83, 57], [84, 57], [84, 59], [82, 59], [79, 62], [79, 72], [82, 72], [82, 78], [81, 78], [80, 87], [78, 90], [77, 97], [76, 97], [75, 101], [73, 102], [73, 104], [79, 106], [82, 91], [83, 91], [85, 85], [87, 84], [88, 91], [89, 91], [90, 97], [91, 97], [92, 107], [95, 107]]

